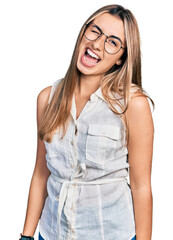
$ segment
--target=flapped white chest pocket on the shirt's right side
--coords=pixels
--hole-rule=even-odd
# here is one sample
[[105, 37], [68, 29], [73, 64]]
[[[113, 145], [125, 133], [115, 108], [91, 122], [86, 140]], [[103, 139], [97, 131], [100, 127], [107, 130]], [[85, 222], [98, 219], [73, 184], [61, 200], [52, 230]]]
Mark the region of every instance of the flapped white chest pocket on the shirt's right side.
[[86, 159], [104, 165], [113, 160], [120, 143], [121, 128], [110, 125], [89, 125], [86, 140]]

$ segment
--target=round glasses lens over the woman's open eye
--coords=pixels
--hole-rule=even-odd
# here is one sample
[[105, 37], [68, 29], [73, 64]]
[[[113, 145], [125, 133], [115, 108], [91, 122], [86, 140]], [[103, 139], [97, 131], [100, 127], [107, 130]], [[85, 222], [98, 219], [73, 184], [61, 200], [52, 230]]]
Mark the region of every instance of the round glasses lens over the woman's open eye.
[[121, 48], [121, 42], [114, 37], [108, 37], [105, 42], [105, 50], [108, 53], [117, 53]]

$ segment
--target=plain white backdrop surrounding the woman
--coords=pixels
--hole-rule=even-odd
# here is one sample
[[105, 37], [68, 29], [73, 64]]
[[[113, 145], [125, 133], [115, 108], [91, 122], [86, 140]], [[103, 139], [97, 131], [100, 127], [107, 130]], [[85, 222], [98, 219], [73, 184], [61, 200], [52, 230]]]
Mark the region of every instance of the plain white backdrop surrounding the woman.
[[[0, 2], [1, 239], [18, 239], [23, 229], [36, 159], [37, 95], [65, 75], [84, 21], [96, 9], [114, 3], [129, 8], [138, 21], [143, 87], [156, 105], [152, 240], [172, 238], [171, 1], [4, 0]], [[37, 234], [38, 228], [35, 239]]]

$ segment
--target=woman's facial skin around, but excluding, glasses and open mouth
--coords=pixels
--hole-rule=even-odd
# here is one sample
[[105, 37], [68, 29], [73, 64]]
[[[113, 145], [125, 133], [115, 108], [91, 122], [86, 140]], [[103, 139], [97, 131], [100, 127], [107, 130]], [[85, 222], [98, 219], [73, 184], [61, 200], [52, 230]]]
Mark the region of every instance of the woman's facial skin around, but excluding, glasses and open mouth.
[[[125, 45], [124, 26], [121, 19], [108, 13], [103, 13], [94, 19], [93, 23], [99, 26], [106, 35], [118, 36], [122, 40], [123, 46]], [[107, 53], [104, 50], [105, 39], [105, 35], [101, 35], [101, 37], [96, 41], [89, 41], [85, 37], [82, 38], [79, 46], [79, 56], [77, 61], [77, 67], [82, 73], [82, 77], [85, 75], [87, 77], [90, 76], [90, 79], [92, 78], [93, 81], [95, 80], [95, 77], [100, 80], [105, 72], [107, 72], [114, 64], [119, 65], [121, 63], [120, 57], [122, 56], [124, 50], [121, 49], [114, 55]], [[101, 61], [92, 68], [85, 66], [81, 61], [81, 56], [87, 47], [93, 50], [101, 58]]]

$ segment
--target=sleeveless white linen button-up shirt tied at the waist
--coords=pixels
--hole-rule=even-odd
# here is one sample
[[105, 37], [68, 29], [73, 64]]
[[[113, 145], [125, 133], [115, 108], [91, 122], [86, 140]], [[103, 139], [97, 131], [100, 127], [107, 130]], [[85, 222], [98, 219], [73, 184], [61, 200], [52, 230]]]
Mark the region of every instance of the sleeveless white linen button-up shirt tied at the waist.
[[64, 138], [56, 131], [51, 143], [44, 141], [51, 175], [39, 231], [45, 240], [131, 240], [135, 219], [124, 124], [101, 87], [77, 119], [73, 95], [70, 114]]

